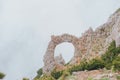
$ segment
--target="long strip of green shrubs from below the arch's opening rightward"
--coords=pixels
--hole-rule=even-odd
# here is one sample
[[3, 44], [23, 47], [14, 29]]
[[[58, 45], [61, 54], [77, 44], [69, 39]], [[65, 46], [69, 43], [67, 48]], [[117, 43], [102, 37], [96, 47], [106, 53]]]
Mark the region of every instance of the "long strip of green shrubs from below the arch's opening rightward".
[[51, 73], [51, 76], [54, 77], [55, 79], [64, 80], [64, 78], [72, 72], [77, 72], [77, 71], [84, 71], [84, 70], [95, 70], [95, 69], [100, 69], [104, 68], [104, 63], [101, 59], [92, 59], [91, 61], [82, 61], [79, 65], [72, 66], [71, 68], [64, 70], [64, 71], [56, 71], [53, 70]]

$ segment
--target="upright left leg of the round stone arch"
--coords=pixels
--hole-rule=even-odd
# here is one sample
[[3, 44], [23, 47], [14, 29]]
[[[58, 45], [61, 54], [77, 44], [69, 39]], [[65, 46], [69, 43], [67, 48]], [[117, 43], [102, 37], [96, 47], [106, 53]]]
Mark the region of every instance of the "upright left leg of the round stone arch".
[[54, 44], [53, 41], [49, 42], [47, 51], [44, 55], [44, 67], [43, 67], [43, 73], [49, 75], [51, 71], [55, 68], [55, 60], [54, 60], [54, 49], [56, 45]]

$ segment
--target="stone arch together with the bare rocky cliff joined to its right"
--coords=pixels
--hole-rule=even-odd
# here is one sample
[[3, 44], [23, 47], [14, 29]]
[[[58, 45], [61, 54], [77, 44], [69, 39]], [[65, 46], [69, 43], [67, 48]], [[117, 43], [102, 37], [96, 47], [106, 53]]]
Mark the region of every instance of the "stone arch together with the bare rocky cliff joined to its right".
[[62, 42], [72, 43], [75, 47], [74, 57], [71, 60], [71, 63], [75, 64], [84, 58], [89, 60], [104, 54], [113, 40], [117, 47], [120, 46], [120, 9], [95, 31], [89, 28], [80, 38], [69, 34], [52, 36], [44, 55], [43, 72], [50, 73], [58, 65], [54, 59], [54, 49]]

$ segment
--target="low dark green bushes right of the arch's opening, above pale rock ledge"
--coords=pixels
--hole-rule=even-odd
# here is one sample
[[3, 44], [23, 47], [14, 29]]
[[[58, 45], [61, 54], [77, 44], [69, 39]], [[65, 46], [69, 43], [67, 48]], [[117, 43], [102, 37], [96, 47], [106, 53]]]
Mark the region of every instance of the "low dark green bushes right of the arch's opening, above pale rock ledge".
[[92, 59], [89, 62], [82, 61], [79, 65], [73, 66], [69, 69], [69, 72], [72, 74], [72, 72], [77, 71], [84, 71], [84, 70], [96, 70], [104, 68], [104, 62], [101, 59]]

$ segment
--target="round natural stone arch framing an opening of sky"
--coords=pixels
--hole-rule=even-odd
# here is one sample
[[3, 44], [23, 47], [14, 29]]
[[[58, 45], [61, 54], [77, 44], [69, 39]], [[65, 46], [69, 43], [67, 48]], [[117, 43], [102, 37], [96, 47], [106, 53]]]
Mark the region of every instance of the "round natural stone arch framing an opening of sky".
[[77, 63], [78, 60], [81, 57], [80, 49], [78, 47], [79, 45], [79, 39], [75, 36], [69, 35], [69, 34], [63, 34], [61, 36], [51, 36], [51, 41], [49, 42], [47, 51], [44, 55], [44, 67], [43, 72], [46, 74], [50, 74], [51, 71], [56, 67], [56, 61], [54, 59], [54, 51], [57, 45], [63, 42], [72, 43], [75, 51], [74, 51], [74, 57], [71, 64]]

